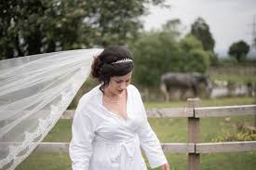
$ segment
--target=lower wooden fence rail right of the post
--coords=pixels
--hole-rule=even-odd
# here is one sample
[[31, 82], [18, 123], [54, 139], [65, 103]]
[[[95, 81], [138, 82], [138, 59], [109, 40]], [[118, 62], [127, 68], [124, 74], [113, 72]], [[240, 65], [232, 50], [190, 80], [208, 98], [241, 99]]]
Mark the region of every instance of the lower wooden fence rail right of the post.
[[256, 141], [236, 141], [218, 143], [197, 143], [196, 153], [216, 153], [256, 150]]

